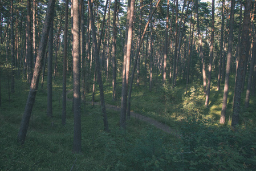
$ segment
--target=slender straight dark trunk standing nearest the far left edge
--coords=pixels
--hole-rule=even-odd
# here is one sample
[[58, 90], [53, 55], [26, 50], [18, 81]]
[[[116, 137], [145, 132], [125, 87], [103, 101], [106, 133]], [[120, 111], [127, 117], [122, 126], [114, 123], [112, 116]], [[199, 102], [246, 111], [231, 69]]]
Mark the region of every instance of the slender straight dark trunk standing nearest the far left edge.
[[15, 49], [14, 49], [14, 17], [13, 17], [13, 0], [11, 0], [11, 93], [14, 93], [15, 78]]

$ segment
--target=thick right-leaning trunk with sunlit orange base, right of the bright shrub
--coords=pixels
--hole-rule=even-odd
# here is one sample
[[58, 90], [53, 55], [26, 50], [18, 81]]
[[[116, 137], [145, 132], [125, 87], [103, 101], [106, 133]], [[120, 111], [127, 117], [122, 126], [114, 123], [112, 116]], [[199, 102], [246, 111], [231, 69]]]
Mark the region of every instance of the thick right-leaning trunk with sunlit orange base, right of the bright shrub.
[[231, 11], [230, 11], [230, 20], [229, 20], [229, 22], [230, 22], [229, 23], [229, 42], [227, 45], [227, 64], [226, 64], [225, 86], [224, 86], [224, 95], [223, 95], [223, 101], [222, 101], [220, 124], [225, 124], [225, 120], [226, 120], [227, 95], [229, 93], [229, 75], [230, 75], [230, 68], [231, 68], [232, 46], [233, 46], [234, 9], [235, 9], [235, 0], [232, 0], [231, 1]]

